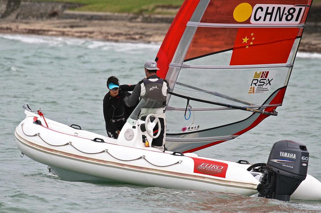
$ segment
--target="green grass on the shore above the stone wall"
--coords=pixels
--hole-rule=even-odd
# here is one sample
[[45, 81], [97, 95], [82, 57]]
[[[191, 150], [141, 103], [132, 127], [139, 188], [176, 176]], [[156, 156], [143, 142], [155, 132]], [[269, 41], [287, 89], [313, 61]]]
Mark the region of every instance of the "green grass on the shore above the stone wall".
[[[33, 0], [44, 1], [44, 0]], [[46, 0], [83, 4], [74, 11], [175, 15], [184, 0]]]

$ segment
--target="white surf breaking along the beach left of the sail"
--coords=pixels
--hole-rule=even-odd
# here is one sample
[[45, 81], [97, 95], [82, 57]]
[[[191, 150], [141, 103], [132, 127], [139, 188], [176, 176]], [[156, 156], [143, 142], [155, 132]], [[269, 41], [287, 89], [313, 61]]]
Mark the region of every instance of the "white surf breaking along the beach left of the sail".
[[19, 35], [19, 34], [0, 34], [0, 38], [20, 41], [23, 43], [44, 43], [49, 46], [75, 45], [89, 49], [115, 50], [118, 52], [135, 52], [137, 50], [152, 49], [158, 50], [159, 43], [116, 43], [108, 41], [96, 41], [82, 38], [68, 38], [45, 35]]

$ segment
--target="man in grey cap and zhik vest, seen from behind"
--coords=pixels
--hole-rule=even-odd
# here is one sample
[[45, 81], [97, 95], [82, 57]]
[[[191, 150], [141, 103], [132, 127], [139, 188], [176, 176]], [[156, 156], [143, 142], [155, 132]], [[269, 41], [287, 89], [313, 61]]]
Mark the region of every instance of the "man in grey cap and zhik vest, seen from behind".
[[160, 131], [160, 135], [152, 140], [152, 146], [164, 151], [166, 136], [165, 106], [166, 97], [169, 92], [169, 83], [156, 75], [157, 70], [159, 70], [156, 61], [146, 61], [144, 64], [144, 70], [146, 78], [136, 84], [133, 93], [129, 97], [126, 97], [124, 101], [126, 106], [133, 106], [137, 102], [138, 98], [153, 100], [149, 103], [145, 103], [145, 106], [141, 112], [141, 117], [147, 115], [144, 114], [144, 111], [152, 111], [153, 114], [159, 118], [160, 128], [158, 125], [156, 125], [153, 129], [153, 133], [156, 135], [157, 132]]

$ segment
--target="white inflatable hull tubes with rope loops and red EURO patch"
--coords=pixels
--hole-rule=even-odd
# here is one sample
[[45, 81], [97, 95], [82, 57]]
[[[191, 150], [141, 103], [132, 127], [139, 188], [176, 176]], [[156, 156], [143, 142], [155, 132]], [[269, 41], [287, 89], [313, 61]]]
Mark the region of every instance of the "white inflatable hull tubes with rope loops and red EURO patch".
[[[131, 147], [133, 144], [125, 139], [120, 141], [75, 130], [49, 119], [46, 119], [47, 128], [33, 123], [35, 119], [44, 123], [38, 114], [25, 113], [26, 119], [15, 130], [17, 146], [26, 156], [50, 166], [53, 173], [63, 180], [107, 179], [135, 185], [247, 196], [255, 195], [260, 184], [246, 170], [249, 165], [198, 157], [193, 153], [172, 155], [171, 152], [145, 147], [141, 141], [138, 145], [142, 147]], [[105, 143], [89, 138], [101, 138]], [[305, 191], [311, 184], [319, 191]], [[321, 183], [311, 177], [302, 182], [295, 197], [291, 198], [321, 200], [320, 192]]]

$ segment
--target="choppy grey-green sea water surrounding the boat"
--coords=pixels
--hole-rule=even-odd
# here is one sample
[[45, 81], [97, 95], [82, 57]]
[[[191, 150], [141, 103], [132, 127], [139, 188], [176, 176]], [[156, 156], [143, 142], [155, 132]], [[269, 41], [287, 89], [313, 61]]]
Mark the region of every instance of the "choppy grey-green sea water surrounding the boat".
[[[67, 182], [46, 165], [20, 157], [15, 127], [27, 102], [50, 119], [106, 135], [106, 80], [144, 77], [160, 44], [112, 43], [34, 35], [0, 35], [0, 212], [320, 212], [321, 201], [277, 201], [230, 193], [164, 189], [117, 182]], [[321, 180], [321, 55], [298, 53], [283, 106], [254, 129], [197, 151], [200, 156], [267, 162], [274, 142], [308, 147], [308, 174]]]

